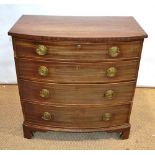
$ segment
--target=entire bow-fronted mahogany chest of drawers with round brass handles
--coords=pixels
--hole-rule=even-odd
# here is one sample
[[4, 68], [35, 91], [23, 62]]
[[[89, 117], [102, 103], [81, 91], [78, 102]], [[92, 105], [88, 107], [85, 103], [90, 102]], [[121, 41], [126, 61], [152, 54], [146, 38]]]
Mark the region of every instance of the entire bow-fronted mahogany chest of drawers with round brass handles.
[[22, 16], [12, 36], [25, 138], [130, 133], [143, 40], [133, 17]]

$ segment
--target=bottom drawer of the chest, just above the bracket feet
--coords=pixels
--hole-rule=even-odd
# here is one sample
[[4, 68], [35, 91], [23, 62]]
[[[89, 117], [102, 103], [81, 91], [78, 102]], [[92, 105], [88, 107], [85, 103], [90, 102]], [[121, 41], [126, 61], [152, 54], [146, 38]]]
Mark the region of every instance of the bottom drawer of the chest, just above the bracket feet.
[[62, 128], [102, 128], [128, 122], [130, 105], [44, 106], [23, 102], [27, 122]]

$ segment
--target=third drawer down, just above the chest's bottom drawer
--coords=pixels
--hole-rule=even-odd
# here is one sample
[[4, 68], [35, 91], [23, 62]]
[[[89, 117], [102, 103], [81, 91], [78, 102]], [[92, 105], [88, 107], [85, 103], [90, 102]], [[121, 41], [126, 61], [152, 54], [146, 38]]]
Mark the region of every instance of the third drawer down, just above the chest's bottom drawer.
[[132, 101], [135, 82], [111, 84], [52, 84], [19, 80], [22, 100], [44, 104], [102, 104], [111, 106]]

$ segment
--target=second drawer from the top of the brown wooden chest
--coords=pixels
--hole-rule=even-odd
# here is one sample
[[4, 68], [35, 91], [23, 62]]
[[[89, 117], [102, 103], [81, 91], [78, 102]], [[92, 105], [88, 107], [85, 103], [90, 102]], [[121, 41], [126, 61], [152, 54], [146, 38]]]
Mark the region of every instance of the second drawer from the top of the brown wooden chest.
[[69, 63], [16, 59], [18, 77], [57, 83], [107, 83], [137, 78], [139, 61]]

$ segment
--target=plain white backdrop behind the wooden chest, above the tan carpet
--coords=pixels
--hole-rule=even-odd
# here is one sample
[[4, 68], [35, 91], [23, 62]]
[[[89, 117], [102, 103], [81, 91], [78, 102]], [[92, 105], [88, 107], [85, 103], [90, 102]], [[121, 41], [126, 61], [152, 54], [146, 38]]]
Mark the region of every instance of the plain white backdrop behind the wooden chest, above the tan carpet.
[[155, 86], [154, 0], [51, 0], [31, 5], [0, 5], [0, 83], [16, 83], [8, 30], [23, 14], [71, 16], [134, 16], [149, 38], [145, 40], [137, 86]]

